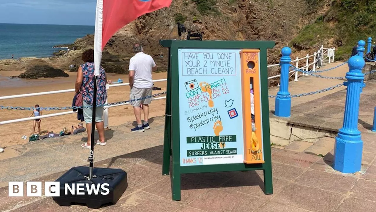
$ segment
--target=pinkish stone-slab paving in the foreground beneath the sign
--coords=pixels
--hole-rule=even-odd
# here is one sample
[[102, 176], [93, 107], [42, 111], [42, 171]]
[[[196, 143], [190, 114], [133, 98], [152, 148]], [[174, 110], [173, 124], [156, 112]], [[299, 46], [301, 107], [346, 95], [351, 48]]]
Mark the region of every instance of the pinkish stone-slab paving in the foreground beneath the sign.
[[[77, 205], [60, 207], [50, 197], [8, 197], [8, 188], [2, 187], [0, 211], [321, 212], [354, 211], [348, 208], [357, 209], [357, 203], [367, 203], [367, 206], [359, 206], [364, 211], [376, 210], [374, 166], [364, 175], [344, 175], [334, 170], [314, 169], [315, 165], [323, 163], [321, 157], [272, 149], [273, 195], [263, 193], [262, 171], [186, 174], [182, 176], [182, 200], [174, 202], [171, 176], [161, 174], [162, 146], [155, 146], [96, 163], [98, 167], [122, 168], [129, 174], [129, 187], [115, 205], [98, 210]], [[324, 158], [327, 157], [331, 157], [331, 153]], [[35, 181], [54, 180], [61, 174]]]

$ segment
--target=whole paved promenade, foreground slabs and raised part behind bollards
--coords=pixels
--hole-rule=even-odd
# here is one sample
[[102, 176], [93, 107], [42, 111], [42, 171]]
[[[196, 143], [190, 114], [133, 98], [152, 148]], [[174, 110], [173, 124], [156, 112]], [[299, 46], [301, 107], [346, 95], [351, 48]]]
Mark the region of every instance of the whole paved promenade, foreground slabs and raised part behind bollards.
[[[290, 83], [296, 89], [294, 84], [300, 82]], [[294, 103], [294, 98], [291, 120], [332, 120], [328, 127], [338, 130], [346, 94], [341, 89], [345, 88], [312, 97], [314, 101]], [[174, 202], [170, 176], [161, 174], [164, 117], [155, 117], [150, 121], [152, 129], [144, 133], [131, 134], [132, 123], [113, 127], [106, 131], [108, 145], [94, 150], [99, 161], [94, 166], [121, 168], [128, 173], [129, 187], [117, 204], [94, 210], [60, 207], [51, 197], [8, 197], [8, 181], [54, 181], [71, 167], [86, 165], [89, 151], [79, 147], [81, 135], [72, 135], [6, 148], [14, 154], [0, 155], [0, 212], [374, 212], [376, 133], [370, 128], [375, 90], [376, 81], [369, 81], [361, 96], [358, 128], [364, 148], [362, 170], [356, 174], [332, 169], [334, 138], [323, 137], [316, 143], [294, 141], [285, 147], [271, 147], [273, 195], [262, 191], [262, 171], [187, 174], [182, 176], [182, 201]]]

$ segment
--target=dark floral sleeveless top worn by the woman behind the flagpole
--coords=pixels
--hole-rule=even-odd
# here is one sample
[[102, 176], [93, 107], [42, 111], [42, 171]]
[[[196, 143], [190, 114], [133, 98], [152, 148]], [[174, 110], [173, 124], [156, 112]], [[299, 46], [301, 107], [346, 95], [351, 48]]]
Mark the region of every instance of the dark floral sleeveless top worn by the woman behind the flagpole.
[[[94, 80], [95, 80], [94, 63], [84, 63], [81, 65], [81, 68], [82, 68], [82, 73], [83, 73], [83, 80], [81, 84], [81, 90], [83, 90], [82, 100], [85, 101], [86, 104], [92, 105], [93, 94], [94, 94]], [[93, 77], [90, 80], [91, 76]], [[99, 76], [97, 80], [98, 80], [97, 81], [97, 105], [103, 105], [106, 103], [106, 100], [107, 100], [107, 91], [106, 91], [106, 72], [102, 66], [99, 69]], [[89, 84], [86, 86], [87, 83]]]

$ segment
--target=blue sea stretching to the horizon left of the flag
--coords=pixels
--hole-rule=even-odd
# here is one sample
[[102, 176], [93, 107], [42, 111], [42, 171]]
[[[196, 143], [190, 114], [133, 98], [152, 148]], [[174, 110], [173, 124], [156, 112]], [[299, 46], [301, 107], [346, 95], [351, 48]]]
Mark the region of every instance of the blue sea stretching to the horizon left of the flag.
[[49, 57], [53, 48], [73, 43], [77, 38], [94, 34], [94, 26], [33, 25], [0, 23], [0, 59]]

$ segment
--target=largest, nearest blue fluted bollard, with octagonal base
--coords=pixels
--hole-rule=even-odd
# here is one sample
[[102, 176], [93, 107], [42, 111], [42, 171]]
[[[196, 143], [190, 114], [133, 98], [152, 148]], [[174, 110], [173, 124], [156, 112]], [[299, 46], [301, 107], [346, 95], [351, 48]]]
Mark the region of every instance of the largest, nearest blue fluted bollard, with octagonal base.
[[348, 65], [350, 70], [344, 83], [347, 86], [345, 114], [343, 127], [335, 138], [333, 168], [343, 173], [355, 173], [360, 171], [362, 164], [363, 141], [358, 130], [358, 117], [360, 88], [365, 86], [362, 73], [365, 61], [363, 57], [355, 55], [350, 57]]

